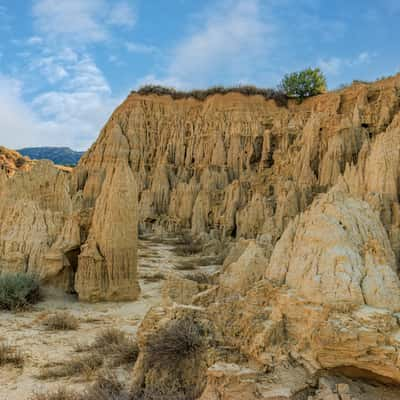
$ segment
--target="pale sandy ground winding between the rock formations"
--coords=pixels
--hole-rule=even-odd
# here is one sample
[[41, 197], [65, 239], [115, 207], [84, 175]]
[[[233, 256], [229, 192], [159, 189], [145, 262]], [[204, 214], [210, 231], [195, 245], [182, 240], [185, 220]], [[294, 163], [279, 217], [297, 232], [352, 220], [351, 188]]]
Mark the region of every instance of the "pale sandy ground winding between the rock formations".
[[[150, 240], [149, 240], [150, 239]], [[173, 243], [157, 242], [154, 238], [139, 244], [140, 299], [128, 303], [79, 303], [76, 297], [47, 291], [45, 299], [32, 310], [21, 313], [0, 312], [0, 339], [17, 346], [25, 356], [23, 369], [10, 365], [0, 367], [0, 400], [25, 400], [34, 392], [45, 392], [60, 386], [79, 389], [87, 385], [84, 378], [40, 380], [41, 367], [74, 356], [77, 343], [90, 343], [106, 328], [118, 328], [134, 335], [146, 312], [160, 303], [162, 280], [149, 279], [152, 275], [170, 273], [179, 258]], [[210, 267], [201, 267], [210, 270]], [[146, 279], [147, 277], [147, 279]], [[43, 318], [56, 311], [68, 310], [79, 319], [76, 331], [47, 331]], [[127, 377], [129, 371], [125, 371]]]

